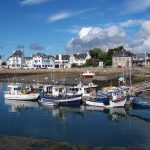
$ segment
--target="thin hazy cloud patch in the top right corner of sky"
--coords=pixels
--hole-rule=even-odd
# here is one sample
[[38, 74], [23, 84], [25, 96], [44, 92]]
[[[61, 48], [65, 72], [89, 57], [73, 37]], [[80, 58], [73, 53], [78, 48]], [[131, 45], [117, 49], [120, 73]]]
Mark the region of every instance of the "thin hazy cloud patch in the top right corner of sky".
[[150, 8], [150, 0], [128, 0], [125, 4], [125, 13], [139, 13]]

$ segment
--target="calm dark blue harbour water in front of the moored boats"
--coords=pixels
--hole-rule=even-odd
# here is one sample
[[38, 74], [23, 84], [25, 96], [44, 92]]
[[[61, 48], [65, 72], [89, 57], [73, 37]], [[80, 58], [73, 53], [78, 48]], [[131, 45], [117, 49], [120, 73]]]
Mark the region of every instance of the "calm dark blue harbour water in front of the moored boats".
[[87, 146], [150, 148], [150, 110], [41, 107], [37, 102], [5, 100], [0, 84], [0, 134], [68, 141]]

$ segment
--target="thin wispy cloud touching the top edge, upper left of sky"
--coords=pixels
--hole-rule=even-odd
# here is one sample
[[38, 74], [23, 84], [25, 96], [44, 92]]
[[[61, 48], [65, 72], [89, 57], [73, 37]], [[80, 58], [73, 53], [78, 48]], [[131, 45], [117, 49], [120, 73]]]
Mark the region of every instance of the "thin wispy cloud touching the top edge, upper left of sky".
[[26, 6], [26, 5], [38, 5], [44, 2], [47, 2], [48, 0], [21, 0], [20, 5]]

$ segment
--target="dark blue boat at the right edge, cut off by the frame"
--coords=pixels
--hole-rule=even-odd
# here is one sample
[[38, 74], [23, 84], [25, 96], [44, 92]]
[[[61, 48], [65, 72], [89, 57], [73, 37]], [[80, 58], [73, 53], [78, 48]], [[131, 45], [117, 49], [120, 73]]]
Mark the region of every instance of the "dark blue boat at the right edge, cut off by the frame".
[[145, 101], [143, 99], [139, 99], [139, 98], [134, 98], [132, 100], [132, 104], [133, 106], [137, 107], [137, 108], [150, 108], [150, 101]]

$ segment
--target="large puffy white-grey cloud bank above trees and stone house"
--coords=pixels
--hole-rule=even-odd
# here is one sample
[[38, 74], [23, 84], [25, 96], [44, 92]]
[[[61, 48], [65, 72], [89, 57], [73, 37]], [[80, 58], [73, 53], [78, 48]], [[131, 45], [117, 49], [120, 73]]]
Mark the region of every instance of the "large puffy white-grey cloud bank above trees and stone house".
[[83, 27], [76, 37], [68, 41], [66, 51], [69, 53], [84, 52], [92, 48], [107, 50], [120, 45], [132, 52], [150, 51], [150, 20], [145, 20], [139, 25], [139, 30], [132, 37], [119, 25], [105, 28]]

